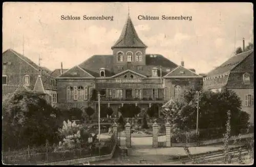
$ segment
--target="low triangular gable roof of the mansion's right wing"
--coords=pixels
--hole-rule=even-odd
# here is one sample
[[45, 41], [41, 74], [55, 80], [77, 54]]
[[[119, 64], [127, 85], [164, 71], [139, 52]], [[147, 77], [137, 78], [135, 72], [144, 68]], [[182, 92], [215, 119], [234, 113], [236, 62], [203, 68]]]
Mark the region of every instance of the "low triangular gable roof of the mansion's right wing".
[[168, 74], [164, 76], [164, 78], [202, 78], [202, 76], [196, 74], [194, 71], [190, 69], [186, 69], [183, 66], [178, 66]]

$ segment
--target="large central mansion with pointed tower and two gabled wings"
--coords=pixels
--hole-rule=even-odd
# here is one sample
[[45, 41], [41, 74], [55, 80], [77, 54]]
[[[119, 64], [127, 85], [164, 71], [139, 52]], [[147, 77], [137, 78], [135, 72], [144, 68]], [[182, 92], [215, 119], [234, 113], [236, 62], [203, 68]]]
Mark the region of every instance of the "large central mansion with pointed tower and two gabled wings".
[[[159, 54], [147, 54], [147, 46], [138, 37], [130, 16], [122, 33], [111, 47], [112, 55], [94, 55], [65, 71], [57, 79], [58, 105], [64, 108], [101, 106], [118, 113], [124, 104], [147, 109], [163, 105], [191, 83], [202, 85], [202, 76], [177, 65]], [[96, 92], [96, 93], [95, 93]], [[95, 96], [96, 94], [96, 96]]]

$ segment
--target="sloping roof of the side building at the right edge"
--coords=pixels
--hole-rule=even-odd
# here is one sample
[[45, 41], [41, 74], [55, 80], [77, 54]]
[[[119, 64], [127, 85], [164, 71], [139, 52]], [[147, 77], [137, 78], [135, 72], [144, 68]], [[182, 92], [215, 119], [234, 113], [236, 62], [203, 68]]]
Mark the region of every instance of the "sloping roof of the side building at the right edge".
[[253, 50], [234, 55], [233, 57], [231, 57], [230, 59], [222, 63], [217, 68], [211, 70], [207, 74], [207, 76], [227, 73], [228, 71], [236, 67], [238, 64], [240, 64], [245, 58], [247, 58], [251, 54], [253, 54]]

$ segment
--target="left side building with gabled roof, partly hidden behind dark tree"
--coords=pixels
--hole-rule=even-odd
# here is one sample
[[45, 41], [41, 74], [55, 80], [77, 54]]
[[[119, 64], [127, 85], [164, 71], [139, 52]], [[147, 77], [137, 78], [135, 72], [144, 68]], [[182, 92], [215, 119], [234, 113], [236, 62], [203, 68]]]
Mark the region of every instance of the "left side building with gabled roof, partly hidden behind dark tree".
[[14, 50], [2, 54], [2, 96], [26, 87], [40, 93], [49, 104], [57, 103], [56, 80], [51, 71], [39, 67], [33, 61]]

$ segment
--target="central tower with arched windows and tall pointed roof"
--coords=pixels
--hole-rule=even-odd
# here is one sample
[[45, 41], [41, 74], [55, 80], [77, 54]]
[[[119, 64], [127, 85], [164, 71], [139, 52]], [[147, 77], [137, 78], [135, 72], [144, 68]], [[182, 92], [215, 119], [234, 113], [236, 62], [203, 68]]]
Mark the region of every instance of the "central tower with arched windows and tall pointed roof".
[[133, 22], [128, 16], [122, 33], [116, 43], [111, 47], [114, 55], [114, 65], [145, 65], [146, 45], [140, 40]]

